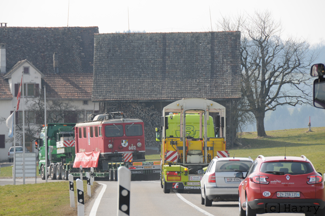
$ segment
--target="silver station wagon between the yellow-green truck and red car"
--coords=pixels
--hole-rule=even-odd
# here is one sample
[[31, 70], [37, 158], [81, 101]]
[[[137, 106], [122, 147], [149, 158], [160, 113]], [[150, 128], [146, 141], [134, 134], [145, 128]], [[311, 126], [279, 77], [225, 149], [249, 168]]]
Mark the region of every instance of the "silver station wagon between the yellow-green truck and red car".
[[[210, 162], [201, 179], [201, 204], [212, 206], [212, 201], [238, 201], [238, 187], [241, 178], [236, 173], [243, 172], [245, 176], [251, 158], [217, 158]], [[199, 170], [203, 174], [203, 170]]]

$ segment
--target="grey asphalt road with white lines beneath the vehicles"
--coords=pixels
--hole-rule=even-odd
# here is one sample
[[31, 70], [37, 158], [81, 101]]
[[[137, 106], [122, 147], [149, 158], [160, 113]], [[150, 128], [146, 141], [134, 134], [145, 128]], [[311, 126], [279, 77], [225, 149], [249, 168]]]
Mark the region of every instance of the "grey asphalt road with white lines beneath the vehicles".
[[[117, 182], [97, 181], [103, 184], [87, 206], [85, 206], [86, 216], [106, 216], [117, 213]], [[106, 186], [106, 190], [101, 197], [100, 192]], [[131, 203], [130, 215], [132, 216], [166, 216], [166, 215], [218, 215], [233, 216], [239, 214], [238, 202], [213, 202], [211, 207], [201, 205], [200, 194], [183, 193], [178, 194], [171, 191], [164, 194], [160, 188], [160, 181], [132, 181], [131, 182]], [[97, 199], [95, 199], [97, 198]], [[96, 205], [98, 204], [98, 208]], [[273, 215], [271, 213], [263, 215]], [[302, 213], [277, 213], [277, 216], [304, 215]]]

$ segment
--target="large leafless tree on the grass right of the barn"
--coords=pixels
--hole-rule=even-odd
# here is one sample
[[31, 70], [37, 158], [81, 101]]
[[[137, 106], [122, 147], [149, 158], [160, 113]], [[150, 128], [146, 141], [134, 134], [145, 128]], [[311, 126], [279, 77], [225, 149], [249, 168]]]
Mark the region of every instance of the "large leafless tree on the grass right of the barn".
[[309, 103], [309, 67], [314, 59], [309, 44], [281, 39], [281, 23], [270, 12], [240, 15], [218, 23], [222, 30], [241, 32], [243, 106], [256, 119], [257, 136], [266, 136], [265, 112], [277, 106]]

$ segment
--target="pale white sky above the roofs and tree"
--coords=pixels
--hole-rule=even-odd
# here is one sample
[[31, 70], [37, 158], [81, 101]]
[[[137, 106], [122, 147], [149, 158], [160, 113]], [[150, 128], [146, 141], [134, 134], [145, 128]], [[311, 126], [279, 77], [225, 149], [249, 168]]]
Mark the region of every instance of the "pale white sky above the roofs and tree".
[[[217, 31], [222, 16], [269, 10], [283, 38], [325, 44], [324, 0], [0, 0], [0, 22], [19, 27], [98, 26], [99, 32]], [[211, 15], [210, 15], [211, 14]], [[220, 29], [219, 29], [220, 30]]]

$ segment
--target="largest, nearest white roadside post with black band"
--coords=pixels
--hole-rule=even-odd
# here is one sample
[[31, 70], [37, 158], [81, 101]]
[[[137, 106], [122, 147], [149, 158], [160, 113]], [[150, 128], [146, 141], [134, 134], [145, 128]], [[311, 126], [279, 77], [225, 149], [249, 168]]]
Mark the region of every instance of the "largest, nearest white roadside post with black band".
[[130, 215], [131, 171], [124, 166], [118, 172], [117, 215]]

